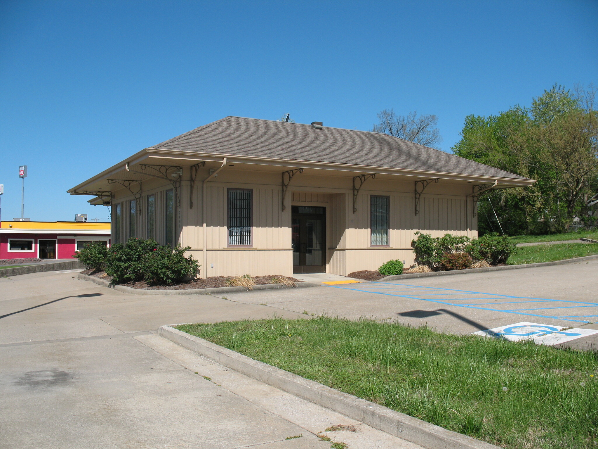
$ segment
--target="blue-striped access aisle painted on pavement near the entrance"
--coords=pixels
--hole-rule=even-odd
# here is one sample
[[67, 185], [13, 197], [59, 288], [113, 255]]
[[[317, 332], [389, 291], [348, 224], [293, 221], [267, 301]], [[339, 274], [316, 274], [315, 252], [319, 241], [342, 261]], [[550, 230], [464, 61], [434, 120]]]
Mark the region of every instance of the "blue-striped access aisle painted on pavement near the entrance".
[[[383, 285], [382, 285], [383, 284]], [[445, 289], [442, 287], [424, 287], [424, 286], [414, 286], [410, 284], [398, 284], [398, 283], [364, 283], [359, 286], [356, 284], [337, 284], [328, 287], [333, 287], [336, 289], [344, 289], [344, 290], [355, 290], [356, 292], [364, 292], [364, 293], [376, 293], [377, 295], [386, 295], [386, 296], [397, 296], [398, 298], [405, 298], [405, 299], [419, 299], [420, 301], [427, 301], [427, 302], [435, 302], [437, 304], [444, 304], [444, 305], [452, 305], [454, 307], [463, 307], [463, 308], [470, 308], [470, 309], [479, 309], [479, 310], [489, 310], [495, 312], [502, 312], [502, 313], [509, 313], [509, 314], [517, 314], [517, 315], [527, 315], [532, 317], [541, 317], [541, 318], [554, 318], [556, 320], [566, 320], [566, 321], [575, 321], [579, 323], [591, 323], [590, 320], [582, 320], [582, 319], [574, 319], [574, 318], [592, 318], [598, 317], [598, 315], [565, 315], [565, 316], [553, 316], [553, 315], [540, 315], [534, 313], [526, 313], [526, 311], [536, 311], [536, 310], [551, 310], [551, 309], [568, 309], [568, 308], [583, 308], [583, 307], [598, 307], [598, 303], [596, 302], [584, 302], [584, 301], [568, 301], [563, 299], [548, 299], [548, 298], [530, 298], [526, 296], [512, 296], [512, 295], [500, 295], [498, 293], [484, 293], [484, 292], [471, 292], [468, 290], [457, 290], [457, 289]], [[426, 293], [423, 293], [426, 292]], [[432, 293], [435, 292], [435, 293]], [[402, 293], [402, 294], [401, 294]], [[405, 294], [406, 293], [406, 294]], [[486, 295], [485, 298], [454, 298], [454, 296], [466, 296], [466, 295]], [[427, 298], [423, 298], [423, 297]], [[431, 296], [441, 296], [441, 298], [430, 298]], [[448, 296], [452, 296], [452, 298], [448, 298]], [[453, 304], [452, 301], [475, 301], [475, 300], [483, 300], [483, 299], [529, 299], [530, 301], [509, 301], [509, 302], [486, 302], [480, 304]], [[480, 307], [483, 305], [498, 305], [498, 304], [522, 304], [522, 303], [536, 303], [536, 302], [544, 302], [549, 305], [554, 302], [560, 302], [562, 304], [572, 304], [566, 306], [556, 306], [556, 307], [539, 307], [539, 308], [530, 308], [530, 309], [511, 309], [511, 310], [500, 310], [496, 308], [489, 308], [489, 307]], [[575, 305], [573, 305], [575, 304]], [[584, 305], [578, 305], [584, 304]]]

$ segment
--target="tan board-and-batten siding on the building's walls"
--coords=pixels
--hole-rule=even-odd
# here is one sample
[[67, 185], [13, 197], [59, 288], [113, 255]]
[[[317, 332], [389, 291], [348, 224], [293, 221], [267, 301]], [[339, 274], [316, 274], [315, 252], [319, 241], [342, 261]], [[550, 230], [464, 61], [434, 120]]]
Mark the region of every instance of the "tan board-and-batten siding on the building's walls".
[[[193, 189], [193, 208], [190, 208], [190, 172], [185, 168], [181, 183], [181, 207], [176, 211], [175, 228], [182, 246], [191, 247], [190, 254], [203, 265], [203, 195], [202, 179], [208, 169], [201, 169]], [[282, 211], [280, 174], [272, 172], [236, 171], [224, 169], [218, 178], [206, 184], [206, 266], [202, 277], [230, 275], [292, 275], [291, 211], [292, 205], [323, 206], [327, 210], [327, 272], [347, 275], [353, 271], [377, 269], [390, 259], [413, 263], [411, 240], [417, 230], [432, 236], [445, 233], [477, 235], [476, 219], [471, 214], [471, 199], [466, 197], [468, 186], [431, 184], [414, 213], [413, 183], [401, 180], [368, 180], [359, 192], [353, 214], [351, 177], [302, 175], [293, 178], [286, 195], [286, 210]], [[144, 184], [141, 214], [136, 223], [139, 237], [147, 237], [147, 196], [155, 193], [155, 233], [163, 243], [165, 234], [164, 207], [169, 185], [155, 181]], [[228, 247], [227, 189], [252, 189], [253, 223], [252, 247]], [[389, 196], [389, 245], [370, 245], [370, 196]], [[113, 204], [123, 208], [121, 236], [128, 236], [128, 207], [132, 196], [121, 190]], [[470, 202], [469, 208], [467, 201]], [[113, 206], [114, 207], [114, 206]], [[114, 214], [112, 219], [114, 220]], [[114, 222], [114, 221], [113, 221]], [[213, 267], [213, 268], [212, 268]]]

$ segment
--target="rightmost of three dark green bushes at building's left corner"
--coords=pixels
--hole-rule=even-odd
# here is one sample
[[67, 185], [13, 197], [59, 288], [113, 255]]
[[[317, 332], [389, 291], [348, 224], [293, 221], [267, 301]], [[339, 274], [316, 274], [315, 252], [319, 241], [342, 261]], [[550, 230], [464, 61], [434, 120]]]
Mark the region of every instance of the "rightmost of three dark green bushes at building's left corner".
[[144, 280], [150, 284], [174, 284], [194, 278], [199, 265], [193, 256], [185, 257], [185, 251], [190, 249], [190, 246], [181, 248], [181, 244], [176, 244], [174, 249], [161, 246], [152, 250], [144, 259]]

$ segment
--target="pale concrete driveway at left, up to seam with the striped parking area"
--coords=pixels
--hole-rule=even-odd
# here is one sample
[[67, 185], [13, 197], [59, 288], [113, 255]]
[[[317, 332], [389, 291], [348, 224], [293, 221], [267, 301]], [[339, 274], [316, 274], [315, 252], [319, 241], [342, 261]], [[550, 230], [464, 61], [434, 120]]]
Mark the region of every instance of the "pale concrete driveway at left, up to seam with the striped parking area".
[[0, 279], [0, 448], [324, 449], [330, 442], [315, 433], [334, 424], [358, 429], [326, 432], [349, 448], [419, 448], [153, 333], [303, 314], [206, 295], [127, 295], [74, 276]]

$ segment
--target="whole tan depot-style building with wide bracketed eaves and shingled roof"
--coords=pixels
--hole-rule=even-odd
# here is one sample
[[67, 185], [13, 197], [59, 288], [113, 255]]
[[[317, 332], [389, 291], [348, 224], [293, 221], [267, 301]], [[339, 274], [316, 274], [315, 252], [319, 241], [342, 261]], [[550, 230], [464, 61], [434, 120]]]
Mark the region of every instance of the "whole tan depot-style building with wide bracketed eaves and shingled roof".
[[386, 134], [225, 117], [68, 192], [112, 208], [112, 242], [180, 242], [201, 276], [413, 263], [414, 232], [477, 236], [489, 189], [533, 180]]

